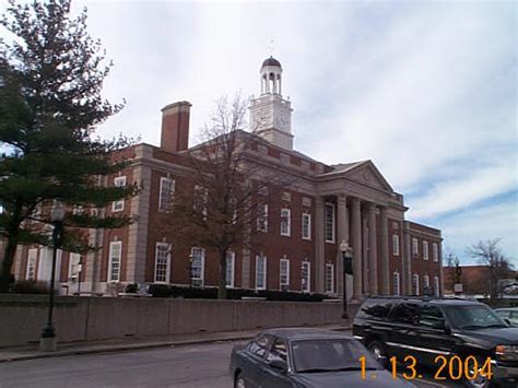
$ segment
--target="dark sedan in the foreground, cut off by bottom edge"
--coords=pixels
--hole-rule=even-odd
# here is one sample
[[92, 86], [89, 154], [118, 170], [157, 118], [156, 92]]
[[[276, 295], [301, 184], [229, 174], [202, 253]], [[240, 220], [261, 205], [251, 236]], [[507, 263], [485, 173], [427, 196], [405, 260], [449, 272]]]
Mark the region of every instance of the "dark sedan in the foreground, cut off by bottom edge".
[[235, 388], [415, 387], [395, 379], [360, 341], [323, 329], [266, 330], [234, 348], [229, 372]]

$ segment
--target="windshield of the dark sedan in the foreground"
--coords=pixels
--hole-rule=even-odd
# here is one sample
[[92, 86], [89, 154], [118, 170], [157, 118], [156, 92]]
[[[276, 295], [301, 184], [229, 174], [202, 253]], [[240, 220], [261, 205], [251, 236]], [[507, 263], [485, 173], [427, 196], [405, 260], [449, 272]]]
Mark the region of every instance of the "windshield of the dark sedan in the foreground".
[[360, 357], [365, 356], [367, 369], [381, 366], [356, 340], [322, 339], [292, 342], [293, 364], [298, 373], [360, 371]]

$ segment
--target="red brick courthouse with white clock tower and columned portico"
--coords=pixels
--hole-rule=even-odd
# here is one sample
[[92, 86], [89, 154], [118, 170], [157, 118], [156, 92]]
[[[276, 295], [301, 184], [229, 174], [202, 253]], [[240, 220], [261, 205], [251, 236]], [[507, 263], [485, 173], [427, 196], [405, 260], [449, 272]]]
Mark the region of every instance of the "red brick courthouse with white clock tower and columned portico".
[[[233, 287], [290, 290], [340, 295], [343, 287], [340, 244], [352, 247], [354, 274], [348, 296], [442, 293], [440, 231], [404, 219], [408, 208], [370, 161], [326, 165], [293, 150], [291, 103], [282, 96], [281, 63], [269, 58], [260, 70], [261, 94], [251, 101], [250, 155], [263, 168], [297, 179], [262, 209], [270, 223], [254, 225], [263, 234], [261, 251], [240, 249], [227, 257]], [[140, 193], [114, 202], [105, 212], [138, 216], [113, 231], [91, 231], [102, 249], [85, 257], [59, 252], [61, 291], [110, 294], [128, 283], [217, 284], [217, 258], [203, 247], [170, 252], [160, 212], [189, 171], [180, 163], [188, 150], [190, 104], [162, 109], [161, 146], [138, 144], [121, 151], [131, 160], [104, 185], [137, 183]], [[271, 196], [270, 196], [271, 197]], [[283, 222], [280, 222], [280, 220]], [[278, 222], [274, 222], [274, 221]], [[81, 261], [80, 261], [81, 260]], [[79, 263], [82, 262], [82, 266]], [[13, 271], [19, 280], [48, 281], [51, 249], [20, 247]], [[80, 277], [80, 279], [78, 279]]]

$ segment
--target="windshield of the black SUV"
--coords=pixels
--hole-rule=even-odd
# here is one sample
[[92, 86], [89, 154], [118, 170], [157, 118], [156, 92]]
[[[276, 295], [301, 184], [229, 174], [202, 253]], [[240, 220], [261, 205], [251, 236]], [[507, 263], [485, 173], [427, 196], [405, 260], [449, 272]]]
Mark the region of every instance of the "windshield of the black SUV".
[[445, 310], [451, 325], [459, 329], [476, 330], [508, 326], [486, 306], [449, 306]]

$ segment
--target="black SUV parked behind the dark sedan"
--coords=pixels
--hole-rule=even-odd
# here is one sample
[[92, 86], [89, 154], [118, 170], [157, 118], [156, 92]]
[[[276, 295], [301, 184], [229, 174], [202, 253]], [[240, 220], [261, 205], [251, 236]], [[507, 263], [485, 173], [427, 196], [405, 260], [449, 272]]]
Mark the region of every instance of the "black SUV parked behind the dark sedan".
[[[354, 318], [353, 336], [387, 366], [391, 364], [389, 357], [396, 356], [400, 362], [412, 355], [419, 363], [436, 368], [446, 364], [440, 377], [451, 377], [448, 375], [454, 373], [454, 378], [461, 376], [468, 386], [488, 387], [497, 381], [518, 387], [518, 328], [479, 302], [372, 297]], [[456, 355], [457, 360], [452, 360]], [[479, 365], [480, 371], [484, 362], [491, 364], [491, 379], [482, 376], [484, 373], [472, 379], [473, 365]], [[452, 372], [456, 366], [464, 372]]]

